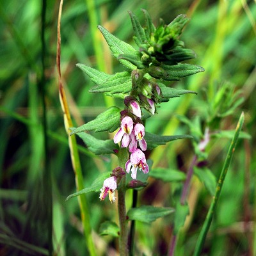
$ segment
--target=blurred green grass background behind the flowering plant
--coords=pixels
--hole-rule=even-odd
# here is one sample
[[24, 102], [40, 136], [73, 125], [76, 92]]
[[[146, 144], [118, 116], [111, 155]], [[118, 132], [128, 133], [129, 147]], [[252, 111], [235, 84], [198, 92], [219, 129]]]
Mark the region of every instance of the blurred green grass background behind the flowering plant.
[[[35, 0], [1, 0], [0, 3], [0, 255], [47, 255], [51, 212], [54, 255], [88, 255], [77, 200], [65, 202], [65, 198], [76, 191], [76, 184], [58, 96], [59, 4], [59, 1], [40, 3]], [[148, 10], [155, 24], [160, 17], [168, 24], [180, 13], [191, 17], [182, 40], [198, 56], [191, 63], [205, 68], [202, 74], [172, 83], [176, 88], [195, 90], [198, 95], [184, 95], [162, 104], [159, 114], [148, 120], [147, 131], [193, 134], [187, 125], [179, 123], [177, 114], [186, 115], [192, 121], [198, 118], [203, 131], [212, 105], [218, 101], [216, 92], [224, 84], [228, 84], [234, 109], [227, 115], [218, 116], [217, 124], [212, 124], [214, 131], [235, 129], [244, 111], [244, 131], [250, 134], [250, 140], [245, 136], [246, 139], [239, 141], [207, 236], [204, 255], [256, 255], [255, 1], [64, 1], [61, 74], [74, 124], [78, 126], [92, 120], [114, 102], [122, 106], [119, 100], [88, 93], [92, 83], [76, 63], [99, 68], [108, 74], [124, 70], [125, 67], [112, 58], [108, 45], [96, 31], [97, 24], [136, 47], [127, 11], [136, 13], [142, 22], [141, 8]], [[45, 22], [42, 22], [44, 11]], [[42, 35], [45, 36], [44, 45]], [[236, 106], [242, 97], [243, 103]], [[221, 103], [218, 106], [221, 112]], [[106, 133], [95, 136], [113, 138], [113, 134]], [[208, 166], [216, 177], [227, 154], [230, 141], [227, 137], [216, 136], [207, 147]], [[115, 157], [95, 157], [78, 138], [77, 141], [81, 145], [84, 186], [92, 184], [99, 173], [115, 168]], [[184, 172], [192, 157], [193, 147], [189, 140], [161, 146], [150, 156], [155, 166], [172, 166]], [[149, 186], [139, 193], [139, 204], [170, 207], [179, 197], [181, 186], [179, 182], [168, 184], [150, 179]], [[127, 196], [127, 207], [131, 207], [130, 191]], [[98, 255], [117, 255], [116, 238], [99, 236], [102, 221], [118, 222], [116, 204], [109, 204], [108, 200], [100, 202], [97, 193], [90, 193], [87, 198]], [[52, 209], [49, 209], [51, 200]], [[196, 177], [188, 202], [191, 214], [179, 236], [175, 255], [191, 255], [211, 202], [211, 195]], [[138, 223], [136, 255], [166, 255], [172, 223], [172, 216], [152, 225]]]

